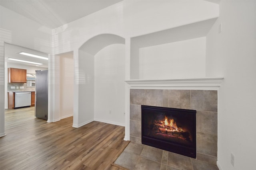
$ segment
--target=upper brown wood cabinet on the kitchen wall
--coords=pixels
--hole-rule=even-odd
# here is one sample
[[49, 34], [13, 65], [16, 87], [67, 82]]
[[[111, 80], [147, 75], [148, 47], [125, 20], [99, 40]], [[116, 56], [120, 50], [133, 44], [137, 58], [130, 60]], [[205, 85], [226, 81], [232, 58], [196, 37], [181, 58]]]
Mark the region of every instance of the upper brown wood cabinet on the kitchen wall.
[[26, 83], [27, 70], [20, 68], [8, 68], [8, 83]]

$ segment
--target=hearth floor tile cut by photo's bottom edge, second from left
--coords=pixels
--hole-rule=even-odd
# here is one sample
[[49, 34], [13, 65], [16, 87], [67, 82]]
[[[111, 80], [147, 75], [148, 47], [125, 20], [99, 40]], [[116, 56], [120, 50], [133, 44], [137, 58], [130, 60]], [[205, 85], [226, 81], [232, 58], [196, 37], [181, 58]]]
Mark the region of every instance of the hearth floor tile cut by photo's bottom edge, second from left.
[[159, 162], [140, 157], [134, 170], [160, 170], [160, 167]]

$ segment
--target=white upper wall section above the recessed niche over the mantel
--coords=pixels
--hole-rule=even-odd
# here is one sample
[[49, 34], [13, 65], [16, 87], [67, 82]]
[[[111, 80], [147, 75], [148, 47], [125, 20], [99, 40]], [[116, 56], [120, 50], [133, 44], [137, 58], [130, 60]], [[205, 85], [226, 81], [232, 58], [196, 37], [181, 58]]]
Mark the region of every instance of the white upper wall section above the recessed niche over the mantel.
[[218, 4], [204, 0], [124, 0], [121, 3], [124, 32], [130, 37], [218, 17]]

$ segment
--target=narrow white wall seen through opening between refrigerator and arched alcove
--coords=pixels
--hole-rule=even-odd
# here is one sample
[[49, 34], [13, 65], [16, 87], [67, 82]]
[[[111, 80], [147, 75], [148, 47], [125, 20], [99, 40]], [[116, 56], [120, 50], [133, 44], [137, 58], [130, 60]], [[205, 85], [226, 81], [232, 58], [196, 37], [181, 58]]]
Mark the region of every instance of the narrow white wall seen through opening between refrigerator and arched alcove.
[[73, 52], [60, 54], [60, 119], [73, 115], [74, 59]]

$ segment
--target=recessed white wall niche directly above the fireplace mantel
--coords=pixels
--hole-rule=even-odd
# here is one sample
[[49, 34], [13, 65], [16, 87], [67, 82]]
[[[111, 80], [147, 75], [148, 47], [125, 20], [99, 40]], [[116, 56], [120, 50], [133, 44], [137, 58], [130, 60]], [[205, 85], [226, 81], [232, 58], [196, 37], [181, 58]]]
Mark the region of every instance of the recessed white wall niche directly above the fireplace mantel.
[[130, 79], [205, 77], [206, 35], [215, 21], [132, 37]]

